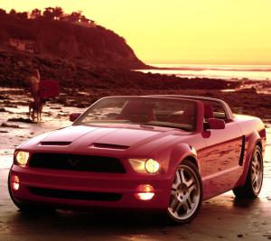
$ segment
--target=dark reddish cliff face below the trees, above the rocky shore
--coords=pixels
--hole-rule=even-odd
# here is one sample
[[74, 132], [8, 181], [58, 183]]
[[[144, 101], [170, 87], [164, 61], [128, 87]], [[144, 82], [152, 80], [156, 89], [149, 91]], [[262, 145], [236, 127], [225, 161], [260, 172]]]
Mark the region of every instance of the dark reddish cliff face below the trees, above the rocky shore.
[[12, 42], [23, 42], [28, 47], [33, 44], [30, 49], [39, 56], [83, 60], [91, 65], [117, 69], [145, 68], [124, 38], [99, 25], [84, 27], [64, 21], [20, 19], [1, 14], [0, 29], [2, 51], [14, 51]]

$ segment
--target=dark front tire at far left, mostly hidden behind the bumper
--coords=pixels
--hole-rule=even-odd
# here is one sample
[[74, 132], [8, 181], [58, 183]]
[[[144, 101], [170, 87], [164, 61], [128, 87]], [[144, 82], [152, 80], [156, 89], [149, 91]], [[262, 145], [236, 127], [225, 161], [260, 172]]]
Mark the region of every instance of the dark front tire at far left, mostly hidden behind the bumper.
[[34, 213], [34, 212], [39, 212], [39, 213], [48, 212], [48, 213], [50, 213], [50, 212], [55, 211], [55, 209], [51, 209], [51, 208], [47, 208], [47, 207], [41, 209], [41, 207], [30, 205], [30, 204], [25, 204], [25, 203], [19, 202], [16, 199], [14, 199], [14, 195], [13, 195], [13, 192], [11, 190], [10, 171], [9, 171], [9, 174], [8, 174], [7, 186], [8, 186], [8, 192], [9, 192], [10, 198], [13, 200], [14, 205], [18, 209], [20, 209], [21, 211], [23, 211], [23, 212], [31, 212], [31, 213]]

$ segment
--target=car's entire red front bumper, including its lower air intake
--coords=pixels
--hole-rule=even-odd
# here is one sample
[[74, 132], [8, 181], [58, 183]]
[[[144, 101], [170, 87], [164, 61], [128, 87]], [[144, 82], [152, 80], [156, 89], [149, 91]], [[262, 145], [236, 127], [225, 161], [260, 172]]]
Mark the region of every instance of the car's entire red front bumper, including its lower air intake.
[[[18, 176], [19, 189], [11, 190], [16, 201], [27, 204], [51, 206], [56, 209], [78, 208], [119, 208], [165, 210], [168, 207], [171, 192], [171, 177], [166, 174], [137, 173], [97, 173], [86, 171], [53, 171], [37, 168], [22, 168], [13, 165], [11, 176]], [[139, 185], [154, 187], [154, 198], [141, 200], [135, 198]], [[54, 197], [48, 191], [54, 190]], [[58, 191], [59, 190], [59, 191]], [[61, 193], [108, 193], [120, 194], [120, 199], [75, 198]], [[51, 193], [51, 192], [50, 192]], [[90, 195], [91, 196], [91, 195]], [[91, 196], [92, 197], [92, 196]]]

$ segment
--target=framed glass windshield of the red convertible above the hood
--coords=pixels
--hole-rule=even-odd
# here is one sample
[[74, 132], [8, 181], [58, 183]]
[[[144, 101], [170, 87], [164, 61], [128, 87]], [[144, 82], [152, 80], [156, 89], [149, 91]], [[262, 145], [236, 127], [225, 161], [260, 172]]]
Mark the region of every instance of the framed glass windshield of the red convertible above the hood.
[[162, 97], [106, 97], [80, 116], [74, 125], [134, 124], [195, 130], [192, 100]]

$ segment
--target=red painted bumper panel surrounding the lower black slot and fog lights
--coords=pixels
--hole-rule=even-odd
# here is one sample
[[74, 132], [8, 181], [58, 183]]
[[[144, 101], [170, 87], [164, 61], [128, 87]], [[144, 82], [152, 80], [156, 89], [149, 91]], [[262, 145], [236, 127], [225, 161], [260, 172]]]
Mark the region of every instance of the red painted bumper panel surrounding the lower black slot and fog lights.
[[[22, 202], [37, 202], [42, 205], [61, 207], [108, 207], [126, 209], [165, 209], [169, 202], [169, 180], [165, 176], [133, 175], [133, 174], [97, 174], [74, 171], [23, 170], [14, 166], [13, 174], [20, 177], [20, 190], [14, 191], [14, 198]], [[155, 196], [150, 201], [135, 199], [135, 190], [140, 184], [154, 187]], [[76, 199], [45, 198], [33, 195], [29, 187], [56, 190], [120, 192], [123, 197], [118, 201], [89, 201]]]

